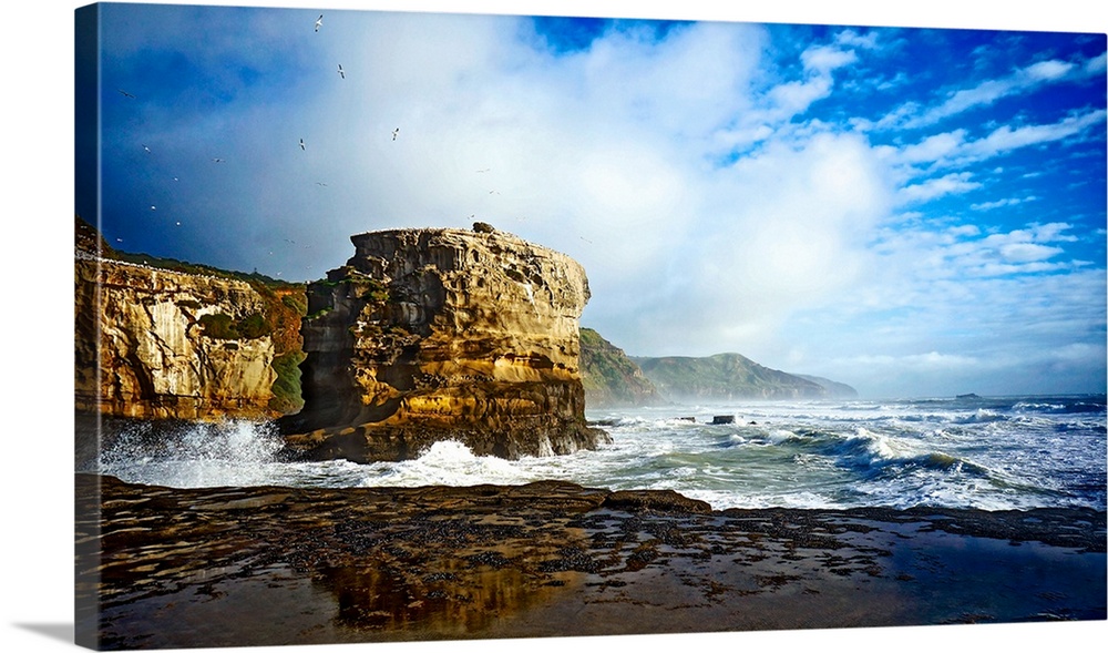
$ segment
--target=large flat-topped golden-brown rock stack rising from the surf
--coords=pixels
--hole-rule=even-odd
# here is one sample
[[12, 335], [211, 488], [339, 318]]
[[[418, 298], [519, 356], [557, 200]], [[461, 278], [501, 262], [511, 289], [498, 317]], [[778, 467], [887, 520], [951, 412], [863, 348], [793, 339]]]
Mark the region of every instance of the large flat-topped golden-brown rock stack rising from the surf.
[[475, 227], [352, 236], [347, 265], [309, 285], [294, 449], [401, 460], [449, 439], [514, 459], [607, 439], [584, 420], [584, 269]]

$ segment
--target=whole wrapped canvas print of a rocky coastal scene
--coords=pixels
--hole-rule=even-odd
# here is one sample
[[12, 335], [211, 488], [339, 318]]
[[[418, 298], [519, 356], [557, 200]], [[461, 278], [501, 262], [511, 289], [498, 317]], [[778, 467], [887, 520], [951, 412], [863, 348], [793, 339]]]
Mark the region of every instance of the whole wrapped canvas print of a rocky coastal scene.
[[1104, 33], [74, 19], [79, 644], [1106, 619]]

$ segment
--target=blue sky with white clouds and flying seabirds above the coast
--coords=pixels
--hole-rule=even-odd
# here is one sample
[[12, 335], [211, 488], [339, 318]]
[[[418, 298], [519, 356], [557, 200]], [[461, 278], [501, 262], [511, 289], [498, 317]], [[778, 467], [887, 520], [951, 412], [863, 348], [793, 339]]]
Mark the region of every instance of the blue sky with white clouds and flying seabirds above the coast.
[[102, 4], [76, 213], [288, 280], [482, 221], [578, 261], [630, 355], [1105, 391], [1098, 28], [537, 16]]

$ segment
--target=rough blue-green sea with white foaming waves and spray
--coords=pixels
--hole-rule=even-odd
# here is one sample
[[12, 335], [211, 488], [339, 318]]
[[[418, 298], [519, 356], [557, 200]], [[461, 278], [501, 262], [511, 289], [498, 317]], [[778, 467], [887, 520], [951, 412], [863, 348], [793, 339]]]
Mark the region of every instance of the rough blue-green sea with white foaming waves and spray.
[[553, 479], [675, 490], [717, 510], [1106, 509], [1104, 395], [735, 401], [596, 409], [586, 417], [611, 443], [504, 460], [442, 441], [418, 459], [371, 465], [289, 461], [271, 422], [140, 422], [112, 438], [89, 471], [178, 488]]

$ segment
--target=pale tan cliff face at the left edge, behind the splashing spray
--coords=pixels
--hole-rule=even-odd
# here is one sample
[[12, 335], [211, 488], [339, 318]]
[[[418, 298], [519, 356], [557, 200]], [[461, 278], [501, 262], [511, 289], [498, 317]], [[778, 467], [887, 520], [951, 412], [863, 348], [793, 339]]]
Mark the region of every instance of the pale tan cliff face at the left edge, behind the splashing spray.
[[78, 249], [75, 405], [153, 419], [258, 418], [276, 378], [261, 297], [243, 282]]

